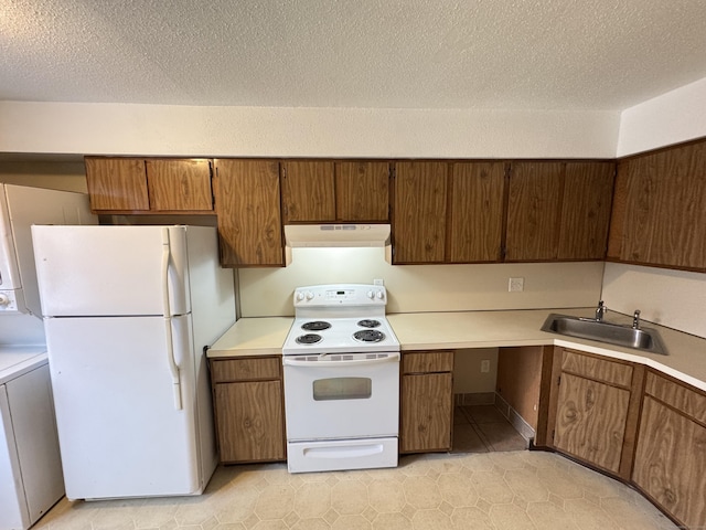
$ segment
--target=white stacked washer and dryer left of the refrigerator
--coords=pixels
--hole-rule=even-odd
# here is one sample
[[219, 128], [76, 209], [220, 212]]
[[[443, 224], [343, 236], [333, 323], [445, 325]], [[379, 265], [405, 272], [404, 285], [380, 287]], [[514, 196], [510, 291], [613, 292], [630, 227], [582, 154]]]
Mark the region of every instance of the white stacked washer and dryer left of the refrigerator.
[[64, 496], [31, 225], [96, 224], [88, 195], [0, 184], [0, 530]]

